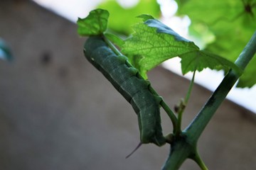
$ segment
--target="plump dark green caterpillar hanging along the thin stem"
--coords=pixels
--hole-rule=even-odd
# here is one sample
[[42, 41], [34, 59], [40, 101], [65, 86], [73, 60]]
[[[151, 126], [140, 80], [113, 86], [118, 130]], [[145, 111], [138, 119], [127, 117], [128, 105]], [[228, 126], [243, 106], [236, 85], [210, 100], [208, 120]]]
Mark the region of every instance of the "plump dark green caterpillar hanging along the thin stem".
[[127, 57], [115, 55], [100, 36], [87, 39], [84, 53], [87, 60], [131, 103], [138, 116], [141, 142], [164, 145], [166, 139], [161, 129], [159, 108], [161, 99], [151, 94], [149, 81], [139, 78], [138, 70], [127, 64]]

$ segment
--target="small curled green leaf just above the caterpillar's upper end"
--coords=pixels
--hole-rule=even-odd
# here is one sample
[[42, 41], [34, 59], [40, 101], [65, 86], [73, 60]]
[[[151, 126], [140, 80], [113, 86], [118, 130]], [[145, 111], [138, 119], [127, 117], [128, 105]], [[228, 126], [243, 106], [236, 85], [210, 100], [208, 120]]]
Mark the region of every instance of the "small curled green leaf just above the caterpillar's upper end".
[[82, 36], [101, 35], [107, 30], [107, 19], [110, 13], [97, 8], [90, 11], [86, 18], [78, 18], [78, 34]]

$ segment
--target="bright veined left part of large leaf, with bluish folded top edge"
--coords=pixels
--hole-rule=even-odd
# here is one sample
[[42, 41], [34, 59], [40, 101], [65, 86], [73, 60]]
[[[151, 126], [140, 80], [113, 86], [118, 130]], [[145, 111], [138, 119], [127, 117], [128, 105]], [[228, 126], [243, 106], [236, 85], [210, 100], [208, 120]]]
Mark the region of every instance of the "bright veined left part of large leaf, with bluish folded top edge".
[[198, 50], [191, 41], [182, 38], [157, 20], [133, 26], [135, 33], [122, 46], [122, 52], [146, 78], [146, 72], [172, 57]]

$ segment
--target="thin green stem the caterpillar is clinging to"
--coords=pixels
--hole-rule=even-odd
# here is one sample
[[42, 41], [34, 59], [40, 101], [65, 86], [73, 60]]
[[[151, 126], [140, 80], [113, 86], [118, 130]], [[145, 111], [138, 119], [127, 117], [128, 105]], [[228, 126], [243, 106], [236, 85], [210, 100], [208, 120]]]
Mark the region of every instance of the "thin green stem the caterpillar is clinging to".
[[[122, 55], [122, 53], [117, 49], [117, 47], [115, 47], [112, 42], [110, 40], [108, 40], [105, 35], [102, 35], [103, 39], [105, 40], [105, 42], [107, 43], [107, 45], [111, 48], [111, 50], [113, 50], [113, 52], [116, 55]], [[133, 67], [132, 64], [130, 64], [129, 62], [127, 62], [127, 64], [130, 67]], [[142, 78], [142, 77], [141, 77]], [[143, 78], [142, 78], [143, 79]], [[154, 94], [155, 96], [159, 96], [159, 94], [157, 94], [157, 92], [153, 89], [153, 87], [149, 86], [149, 91], [151, 91], [152, 94]], [[173, 124], [173, 128], [174, 128], [174, 132], [176, 131], [176, 127], [177, 127], [177, 123], [178, 120], [176, 118], [176, 115], [174, 114], [173, 111], [171, 111], [171, 108], [169, 108], [169, 106], [164, 102], [164, 100], [161, 98], [161, 102], [160, 102], [160, 106], [162, 108], [164, 108], [164, 111], [166, 111], [167, 115], [169, 116], [169, 118], [171, 119], [171, 123]]]

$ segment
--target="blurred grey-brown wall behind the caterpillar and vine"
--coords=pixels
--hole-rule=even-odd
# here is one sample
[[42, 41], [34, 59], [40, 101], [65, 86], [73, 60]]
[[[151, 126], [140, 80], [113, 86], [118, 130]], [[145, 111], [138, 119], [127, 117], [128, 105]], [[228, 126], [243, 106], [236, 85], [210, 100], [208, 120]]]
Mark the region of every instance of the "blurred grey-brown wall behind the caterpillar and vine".
[[[0, 1], [0, 37], [14, 52], [0, 61], [0, 169], [160, 169], [169, 146], [142, 146], [129, 103], [83, 57], [74, 23], [31, 1]], [[153, 86], [174, 106], [188, 81], [160, 67]], [[183, 126], [210, 92], [195, 86]], [[164, 112], [163, 112], [164, 113]], [[164, 132], [171, 124], [163, 115]], [[209, 169], [256, 169], [255, 115], [225, 101], [199, 141]], [[198, 169], [188, 160], [181, 169]]]

